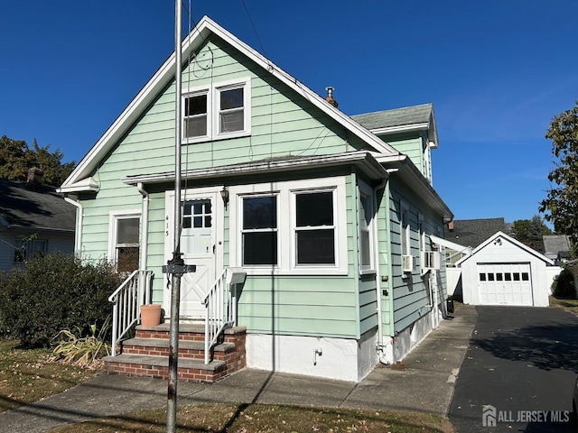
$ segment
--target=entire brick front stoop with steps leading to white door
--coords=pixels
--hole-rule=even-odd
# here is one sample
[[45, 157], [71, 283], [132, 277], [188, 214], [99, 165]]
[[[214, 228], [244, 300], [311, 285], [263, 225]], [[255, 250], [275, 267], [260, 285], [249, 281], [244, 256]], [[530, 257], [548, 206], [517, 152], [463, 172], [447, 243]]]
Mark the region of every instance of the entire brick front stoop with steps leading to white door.
[[[179, 325], [178, 377], [182, 381], [216, 382], [245, 368], [246, 327], [230, 327], [218, 345], [210, 349], [210, 363], [204, 364], [203, 324]], [[121, 344], [121, 354], [107, 356], [107, 373], [168, 378], [170, 324], [137, 326], [135, 337]]]

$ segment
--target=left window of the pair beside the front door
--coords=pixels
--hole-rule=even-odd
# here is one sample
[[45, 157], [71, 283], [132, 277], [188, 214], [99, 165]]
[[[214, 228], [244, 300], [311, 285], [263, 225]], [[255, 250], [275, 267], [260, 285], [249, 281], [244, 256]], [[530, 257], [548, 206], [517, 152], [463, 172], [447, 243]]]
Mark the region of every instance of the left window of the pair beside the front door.
[[277, 196], [242, 198], [243, 265], [277, 264]]

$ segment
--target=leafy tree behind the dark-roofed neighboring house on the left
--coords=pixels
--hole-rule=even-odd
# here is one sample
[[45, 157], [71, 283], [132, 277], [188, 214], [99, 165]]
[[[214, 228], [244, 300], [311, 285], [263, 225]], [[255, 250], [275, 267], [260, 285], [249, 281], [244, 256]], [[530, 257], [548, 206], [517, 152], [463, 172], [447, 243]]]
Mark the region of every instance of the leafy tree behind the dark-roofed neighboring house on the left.
[[22, 140], [0, 137], [0, 178], [26, 180], [28, 169], [38, 167], [42, 170], [42, 181], [58, 187], [74, 169], [75, 161], [62, 163], [64, 154], [60, 149], [50, 152], [50, 144], [39, 146], [34, 139], [33, 149]]

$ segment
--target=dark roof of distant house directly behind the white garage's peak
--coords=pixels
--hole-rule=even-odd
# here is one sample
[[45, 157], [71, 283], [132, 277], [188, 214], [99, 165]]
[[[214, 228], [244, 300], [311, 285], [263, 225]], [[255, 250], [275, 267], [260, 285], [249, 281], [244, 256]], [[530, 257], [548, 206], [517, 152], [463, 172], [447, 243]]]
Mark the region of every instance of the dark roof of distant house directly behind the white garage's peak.
[[504, 218], [454, 219], [453, 229], [443, 227], [443, 237], [463, 246], [477, 247], [496, 232], [505, 232]]

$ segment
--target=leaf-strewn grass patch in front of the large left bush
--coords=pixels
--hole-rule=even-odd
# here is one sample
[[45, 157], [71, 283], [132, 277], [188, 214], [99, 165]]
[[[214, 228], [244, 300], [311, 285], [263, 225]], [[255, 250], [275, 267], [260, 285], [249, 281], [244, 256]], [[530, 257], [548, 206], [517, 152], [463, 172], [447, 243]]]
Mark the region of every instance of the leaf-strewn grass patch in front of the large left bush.
[[51, 362], [50, 350], [24, 350], [0, 341], [0, 412], [65, 392], [95, 375], [86, 368]]

